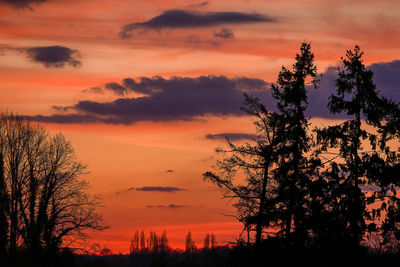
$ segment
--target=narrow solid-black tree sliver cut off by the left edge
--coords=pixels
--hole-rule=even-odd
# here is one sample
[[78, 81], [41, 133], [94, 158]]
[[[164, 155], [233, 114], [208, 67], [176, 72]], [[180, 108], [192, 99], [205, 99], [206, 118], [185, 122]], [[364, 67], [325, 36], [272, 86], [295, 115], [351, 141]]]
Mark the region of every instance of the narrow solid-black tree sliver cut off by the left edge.
[[3, 144], [0, 144], [0, 256], [4, 256], [7, 253], [9, 209], [2, 147]]

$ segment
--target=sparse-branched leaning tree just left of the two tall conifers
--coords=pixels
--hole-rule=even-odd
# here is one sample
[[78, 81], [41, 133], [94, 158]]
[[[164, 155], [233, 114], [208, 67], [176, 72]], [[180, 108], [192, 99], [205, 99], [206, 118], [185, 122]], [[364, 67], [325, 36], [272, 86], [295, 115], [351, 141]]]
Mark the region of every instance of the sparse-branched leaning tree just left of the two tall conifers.
[[[281, 142], [278, 136], [279, 118], [268, 112], [258, 98], [244, 94], [244, 107], [248, 115], [255, 118], [257, 137], [255, 144], [235, 145], [227, 138], [229, 149], [217, 149], [227, 155], [218, 160], [214, 172], [206, 172], [203, 178], [224, 190], [226, 198], [236, 200], [237, 218], [247, 229], [255, 225], [256, 244], [261, 242], [262, 231], [269, 225], [269, 210], [272, 202], [270, 172], [275, 154]], [[245, 176], [245, 184], [235, 183], [235, 178]]]

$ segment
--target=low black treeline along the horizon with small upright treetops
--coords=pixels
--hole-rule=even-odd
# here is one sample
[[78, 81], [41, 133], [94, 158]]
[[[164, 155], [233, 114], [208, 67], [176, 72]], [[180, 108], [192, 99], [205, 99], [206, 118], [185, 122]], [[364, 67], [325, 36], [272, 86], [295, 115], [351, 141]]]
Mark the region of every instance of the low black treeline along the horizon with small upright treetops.
[[[203, 247], [194, 244], [190, 232], [186, 236], [185, 250], [172, 249], [163, 232], [137, 232], [131, 241], [130, 254], [115, 255], [109, 250], [100, 255], [66, 257], [68, 266], [76, 267], [243, 267], [243, 266], [399, 266], [400, 258], [392, 253], [364, 251], [349, 258], [348, 253], [331, 253], [316, 249], [282, 247], [277, 240], [264, 240], [259, 246], [237, 240], [235, 244], [218, 245], [213, 235], [207, 234]], [[139, 237], [139, 239], [137, 238]], [[214, 240], [214, 241], [212, 241]], [[162, 245], [163, 244], [163, 245]], [[139, 246], [139, 247], [137, 247]], [[262, 253], [260, 253], [262, 251]]]

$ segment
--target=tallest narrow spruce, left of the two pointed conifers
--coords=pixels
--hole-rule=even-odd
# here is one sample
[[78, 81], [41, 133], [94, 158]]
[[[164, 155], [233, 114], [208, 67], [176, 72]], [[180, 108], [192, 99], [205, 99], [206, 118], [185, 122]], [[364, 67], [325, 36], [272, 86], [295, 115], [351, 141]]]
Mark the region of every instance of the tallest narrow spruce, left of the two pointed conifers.
[[276, 205], [280, 214], [276, 219], [283, 223], [281, 235], [286, 242], [295, 245], [304, 244], [308, 236], [309, 188], [312, 172], [318, 164], [306, 155], [311, 148], [311, 138], [309, 119], [305, 116], [307, 85], [316, 87], [316, 77], [311, 46], [303, 43], [292, 70], [282, 67], [277, 83], [272, 85], [281, 122], [279, 136], [285, 148], [280, 152], [275, 170], [279, 184]]

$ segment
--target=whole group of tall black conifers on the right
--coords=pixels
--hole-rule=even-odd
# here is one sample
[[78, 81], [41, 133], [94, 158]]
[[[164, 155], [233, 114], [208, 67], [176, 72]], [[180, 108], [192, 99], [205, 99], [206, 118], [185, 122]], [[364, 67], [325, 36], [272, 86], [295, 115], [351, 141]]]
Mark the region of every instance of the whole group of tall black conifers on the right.
[[257, 136], [244, 145], [227, 139], [228, 149], [217, 149], [225, 157], [203, 178], [235, 201], [256, 247], [274, 240], [338, 253], [398, 250], [400, 109], [379, 96], [362, 56], [355, 46], [342, 58], [327, 107], [349, 118], [338, 125], [309, 129], [307, 89], [318, 89], [309, 43], [272, 85], [275, 108], [244, 94], [243, 110], [254, 118]]

